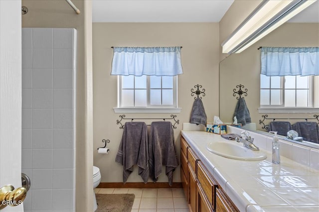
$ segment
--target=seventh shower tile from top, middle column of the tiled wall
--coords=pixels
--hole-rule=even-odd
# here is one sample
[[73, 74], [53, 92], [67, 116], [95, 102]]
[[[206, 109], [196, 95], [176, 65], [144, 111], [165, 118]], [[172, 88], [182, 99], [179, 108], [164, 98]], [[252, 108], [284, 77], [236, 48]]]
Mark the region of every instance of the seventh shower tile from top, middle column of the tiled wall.
[[32, 168], [52, 169], [52, 149], [33, 149]]

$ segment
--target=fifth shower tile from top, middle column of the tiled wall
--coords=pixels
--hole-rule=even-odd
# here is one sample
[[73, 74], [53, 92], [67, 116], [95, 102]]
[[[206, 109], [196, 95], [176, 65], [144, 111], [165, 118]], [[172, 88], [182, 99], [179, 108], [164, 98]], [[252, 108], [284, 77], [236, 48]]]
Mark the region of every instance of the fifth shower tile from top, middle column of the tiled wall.
[[51, 128], [52, 109], [33, 109], [32, 126], [33, 128]]

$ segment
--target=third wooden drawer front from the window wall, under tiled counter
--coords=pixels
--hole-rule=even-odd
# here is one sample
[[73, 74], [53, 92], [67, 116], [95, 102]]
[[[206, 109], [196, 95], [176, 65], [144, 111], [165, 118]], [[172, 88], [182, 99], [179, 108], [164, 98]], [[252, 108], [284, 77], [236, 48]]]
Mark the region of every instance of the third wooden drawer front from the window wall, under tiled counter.
[[201, 165], [200, 162], [197, 163], [197, 179], [204, 194], [207, 197], [210, 206], [214, 209], [215, 208], [215, 187], [216, 183], [211, 180], [207, 172], [205, 171], [204, 167]]

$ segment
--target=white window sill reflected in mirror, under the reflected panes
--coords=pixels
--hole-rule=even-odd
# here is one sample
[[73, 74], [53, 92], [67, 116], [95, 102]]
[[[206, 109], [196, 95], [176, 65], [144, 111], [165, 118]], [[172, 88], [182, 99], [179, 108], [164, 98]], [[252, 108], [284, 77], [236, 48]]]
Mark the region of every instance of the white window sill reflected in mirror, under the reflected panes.
[[265, 108], [259, 107], [259, 113], [318, 113], [318, 107], [277, 107], [277, 108]]

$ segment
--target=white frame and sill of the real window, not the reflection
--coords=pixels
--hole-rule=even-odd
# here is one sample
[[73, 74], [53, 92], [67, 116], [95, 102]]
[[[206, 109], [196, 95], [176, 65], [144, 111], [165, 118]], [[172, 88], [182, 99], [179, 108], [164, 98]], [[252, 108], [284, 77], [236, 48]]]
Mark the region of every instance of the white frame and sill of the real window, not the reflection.
[[[173, 77], [173, 106], [150, 104], [150, 76], [147, 76], [147, 106], [145, 107], [124, 107], [122, 106], [122, 83], [123, 76], [118, 76], [117, 82], [117, 107], [114, 107], [116, 113], [180, 113], [178, 107], [178, 76]], [[161, 88], [162, 90], [162, 88]]]

